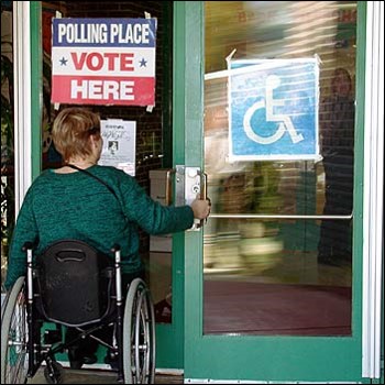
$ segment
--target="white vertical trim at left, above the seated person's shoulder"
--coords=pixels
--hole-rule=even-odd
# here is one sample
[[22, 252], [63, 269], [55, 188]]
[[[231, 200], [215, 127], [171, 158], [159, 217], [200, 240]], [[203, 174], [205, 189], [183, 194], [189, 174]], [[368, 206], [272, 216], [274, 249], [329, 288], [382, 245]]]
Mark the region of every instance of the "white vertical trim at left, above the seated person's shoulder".
[[15, 216], [32, 183], [30, 4], [13, 1]]

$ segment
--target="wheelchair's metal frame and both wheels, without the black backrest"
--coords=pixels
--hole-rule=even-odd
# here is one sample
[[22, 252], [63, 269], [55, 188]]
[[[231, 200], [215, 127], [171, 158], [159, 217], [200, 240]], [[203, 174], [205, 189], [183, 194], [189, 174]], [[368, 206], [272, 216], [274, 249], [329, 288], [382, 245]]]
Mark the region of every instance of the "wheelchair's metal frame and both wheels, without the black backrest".
[[[111, 295], [117, 312], [114, 321], [107, 317], [106, 321], [92, 322], [90, 328], [90, 323], [85, 324], [87, 329], [76, 327], [80, 333], [68, 342], [59, 339], [59, 341], [44, 341], [44, 343], [42, 343], [41, 327], [43, 322], [52, 322], [52, 320], [36, 317], [33, 246], [31, 243], [25, 243], [23, 250], [26, 252], [26, 277], [20, 277], [15, 282], [1, 308], [1, 384], [25, 383], [36, 374], [44, 361], [46, 363], [44, 375], [47, 383], [61, 383], [63, 367], [56, 362], [55, 354], [64, 352], [86, 337], [97, 340], [118, 356], [118, 381], [124, 384], [153, 384], [155, 381], [154, 306], [150, 290], [141, 278], [133, 279], [129, 285], [123, 306], [120, 248], [117, 245], [111, 250], [114, 254], [116, 272], [116, 296]], [[59, 321], [54, 323], [58, 329], [62, 329], [63, 324], [66, 326]], [[116, 332], [114, 343], [111, 344], [92, 336], [96, 331], [111, 324]]]

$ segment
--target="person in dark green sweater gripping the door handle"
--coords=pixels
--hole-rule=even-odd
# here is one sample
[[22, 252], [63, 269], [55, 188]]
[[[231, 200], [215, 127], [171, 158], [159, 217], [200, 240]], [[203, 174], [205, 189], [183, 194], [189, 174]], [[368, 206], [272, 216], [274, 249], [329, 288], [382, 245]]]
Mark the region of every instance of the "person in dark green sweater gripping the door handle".
[[[118, 264], [116, 261], [114, 266], [119, 265], [121, 278], [117, 278], [117, 285], [121, 280], [121, 287], [125, 288], [133, 278], [143, 277], [143, 263], [139, 254], [139, 228], [148, 234], [167, 234], [191, 228], [194, 218], [208, 217], [209, 200], [197, 199], [190, 206], [164, 207], [151, 199], [132, 176], [114, 167], [99, 166], [97, 163], [102, 151], [102, 138], [98, 114], [81, 108], [64, 109], [57, 114], [52, 133], [55, 147], [64, 161], [63, 167], [44, 170], [25, 195], [10, 248], [7, 289], [14, 287], [18, 278], [28, 273], [28, 255], [22, 250], [25, 242], [33, 243], [33, 251], [30, 252], [31, 265], [40, 258], [43, 271], [47, 273], [57, 267], [45, 263], [50, 258], [47, 251], [63, 240], [80, 242], [92, 249], [98, 254], [96, 261], [99, 262], [92, 261], [90, 264], [96, 265], [100, 263], [100, 255], [110, 255], [109, 258], [113, 262], [118, 249], [119, 261]], [[111, 254], [111, 248], [116, 245], [119, 246], [114, 254]], [[76, 255], [69, 255], [70, 261], [76, 262]], [[68, 267], [65, 274], [55, 272], [47, 274], [52, 278], [40, 289], [48, 290], [57, 285], [64, 275], [69, 275], [76, 283], [75, 289], [63, 294], [59, 300], [76, 302], [77, 297], [81, 297], [82, 294], [81, 285], [86, 284], [77, 280], [77, 267]], [[37, 275], [43, 273], [38, 272]], [[98, 278], [95, 284], [99, 286], [102, 280], [100, 274], [107, 273], [96, 273]], [[35, 286], [34, 284], [33, 287]], [[118, 286], [113, 296], [118, 296], [117, 290]], [[124, 297], [123, 289], [122, 298]], [[62, 322], [67, 326], [78, 323], [76, 320]], [[92, 327], [94, 323], [86, 326], [86, 329]], [[70, 340], [76, 333], [79, 331], [69, 327], [66, 340]], [[95, 348], [98, 341], [89, 341], [80, 339], [77, 346], [67, 349], [74, 367], [96, 361]], [[3, 363], [1, 372], [3, 375]]]

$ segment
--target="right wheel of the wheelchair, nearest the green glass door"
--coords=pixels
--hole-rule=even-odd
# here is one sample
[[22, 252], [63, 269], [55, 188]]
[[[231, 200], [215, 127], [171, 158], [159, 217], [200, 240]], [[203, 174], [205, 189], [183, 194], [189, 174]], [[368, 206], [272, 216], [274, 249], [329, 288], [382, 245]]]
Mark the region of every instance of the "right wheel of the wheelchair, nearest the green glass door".
[[123, 372], [125, 384], [155, 382], [155, 312], [145, 283], [129, 286], [123, 318]]

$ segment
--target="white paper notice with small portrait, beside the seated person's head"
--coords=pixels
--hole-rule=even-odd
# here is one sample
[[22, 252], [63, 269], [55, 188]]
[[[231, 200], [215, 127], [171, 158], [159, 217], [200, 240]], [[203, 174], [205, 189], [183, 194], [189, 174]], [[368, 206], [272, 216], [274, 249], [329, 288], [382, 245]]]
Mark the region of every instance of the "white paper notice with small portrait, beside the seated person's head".
[[102, 120], [100, 123], [103, 148], [99, 164], [135, 176], [136, 122]]

